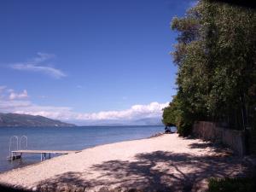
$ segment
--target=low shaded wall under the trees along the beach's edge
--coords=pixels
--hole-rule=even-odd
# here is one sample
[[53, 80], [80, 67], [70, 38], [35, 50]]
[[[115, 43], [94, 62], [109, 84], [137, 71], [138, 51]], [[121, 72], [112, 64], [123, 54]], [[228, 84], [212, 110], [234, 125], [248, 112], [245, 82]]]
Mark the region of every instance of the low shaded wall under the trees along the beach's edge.
[[197, 121], [193, 127], [193, 134], [204, 140], [223, 143], [233, 149], [234, 152], [240, 156], [246, 154], [244, 131], [236, 131], [219, 127], [212, 122]]

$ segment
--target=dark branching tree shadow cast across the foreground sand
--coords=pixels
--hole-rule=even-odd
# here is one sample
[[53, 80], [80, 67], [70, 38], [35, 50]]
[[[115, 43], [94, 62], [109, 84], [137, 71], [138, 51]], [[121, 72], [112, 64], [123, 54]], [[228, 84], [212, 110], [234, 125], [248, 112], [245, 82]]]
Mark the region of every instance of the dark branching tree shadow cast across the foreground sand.
[[[207, 144], [190, 146], [206, 147]], [[110, 160], [94, 165], [88, 171], [66, 172], [45, 180], [44, 183], [53, 188], [58, 183], [68, 183], [84, 188], [114, 184], [143, 191], [197, 191], [207, 188], [206, 180], [209, 177], [237, 177], [243, 176], [247, 171], [247, 165], [236, 156], [198, 156], [155, 151], [137, 154], [133, 161]], [[88, 177], [91, 172], [100, 174], [91, 179]]]

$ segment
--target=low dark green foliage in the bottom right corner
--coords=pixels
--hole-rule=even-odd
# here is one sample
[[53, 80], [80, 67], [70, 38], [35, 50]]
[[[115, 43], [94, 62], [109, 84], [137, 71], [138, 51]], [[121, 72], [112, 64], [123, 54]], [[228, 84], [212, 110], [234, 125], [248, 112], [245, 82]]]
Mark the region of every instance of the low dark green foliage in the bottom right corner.
[[255, 178], [211, 178], [208, 192], [253, 192], [256, 189]]

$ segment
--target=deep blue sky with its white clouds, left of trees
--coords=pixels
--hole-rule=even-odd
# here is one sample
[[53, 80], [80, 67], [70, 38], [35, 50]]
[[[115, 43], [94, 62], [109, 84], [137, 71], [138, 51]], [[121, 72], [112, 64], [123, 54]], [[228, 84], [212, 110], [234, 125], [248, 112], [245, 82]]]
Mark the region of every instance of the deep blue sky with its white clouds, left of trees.
[[170, 23], [194, 3], [1, 1], [0, 113], [160, 119], [176, 94]]

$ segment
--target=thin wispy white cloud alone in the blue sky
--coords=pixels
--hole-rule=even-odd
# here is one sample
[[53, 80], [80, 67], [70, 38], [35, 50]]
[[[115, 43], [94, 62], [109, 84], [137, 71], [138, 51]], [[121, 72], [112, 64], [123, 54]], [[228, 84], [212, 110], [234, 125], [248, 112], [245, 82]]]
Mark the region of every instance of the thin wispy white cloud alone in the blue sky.
[[61, 72], [60, 69], [42, 65], [45, 61], [49, 61], [50, 59], [54, 58], [55, 55], [45, 54], [40, 52], [38, 52], [37, 55], [38, 56], [32, 58], [31, 61], [14, 63], [9, 65], [9, 67], [15, 70], [20, 70], [20, 71], [45, 73], [55, 79], [60, 79], [67, 76], [65, 73]]

